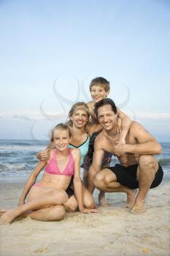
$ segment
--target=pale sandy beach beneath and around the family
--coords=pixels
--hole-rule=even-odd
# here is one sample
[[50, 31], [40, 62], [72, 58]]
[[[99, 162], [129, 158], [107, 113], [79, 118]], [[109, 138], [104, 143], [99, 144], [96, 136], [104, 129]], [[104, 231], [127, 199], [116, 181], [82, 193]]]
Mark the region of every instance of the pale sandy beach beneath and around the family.
[[[0, 208], [16, 206], [22, 190], [22, 183], [1, 184]], [[123, 193], [107, 193], [107, 201], [111, 206], [99, 207], [98, 214], [67, 213], [61, 222], [26, 218], [1, 225], [0, 255], [170, 254], [169, 173], [158, 188], [150, 189], [144, 214], [123, 208]]]

